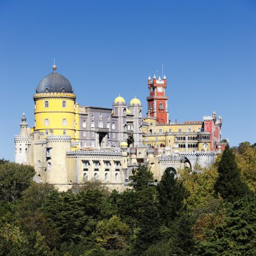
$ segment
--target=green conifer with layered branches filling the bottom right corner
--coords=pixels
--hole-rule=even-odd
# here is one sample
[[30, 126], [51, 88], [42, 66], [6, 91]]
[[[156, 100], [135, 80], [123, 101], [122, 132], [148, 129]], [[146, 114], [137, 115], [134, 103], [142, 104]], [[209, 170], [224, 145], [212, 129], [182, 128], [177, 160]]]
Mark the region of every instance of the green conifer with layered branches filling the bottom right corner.
[[256, 198], [245, 196], [229, 205], [224, 221], [205, 231], [197, 255], [256, 255]]

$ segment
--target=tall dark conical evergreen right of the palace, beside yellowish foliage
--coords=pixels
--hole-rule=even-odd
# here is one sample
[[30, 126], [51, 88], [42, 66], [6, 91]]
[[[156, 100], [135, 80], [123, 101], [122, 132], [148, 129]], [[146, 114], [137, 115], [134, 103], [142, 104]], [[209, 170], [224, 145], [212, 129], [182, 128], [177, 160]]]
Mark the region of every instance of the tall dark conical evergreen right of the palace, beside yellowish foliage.
[[223, 199], [231, 203], [250, 192], [248, 186], [241, 180], [234, 152], [229, 146], [226, 146], [222, 154], [214, 190], [216, 194], [220, 193]]

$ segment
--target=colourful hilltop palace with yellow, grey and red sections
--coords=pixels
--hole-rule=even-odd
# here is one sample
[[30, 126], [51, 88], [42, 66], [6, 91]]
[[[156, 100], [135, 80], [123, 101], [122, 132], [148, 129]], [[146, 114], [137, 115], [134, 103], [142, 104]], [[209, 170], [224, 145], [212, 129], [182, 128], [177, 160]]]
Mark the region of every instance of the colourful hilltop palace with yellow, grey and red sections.
[[149, 77], [148, 88], [144, 119], [137, 98], [127, 105], [119, 95], [113, 108], [82, 106], [75, 102], [69, 80], [53, 65], [34, 94], [34, 127], [22, 116], [15, 162], [34, 166], [35, 181], [62, 191], [91, 179], [122, 191], [141, 164], [159, 180], [167, 167], [179, 174], [179, 168], [214, 162], [226, 145], [221, 142], [222, 119], [213, 113], [203, 121], [171, 123], [166, 77]]

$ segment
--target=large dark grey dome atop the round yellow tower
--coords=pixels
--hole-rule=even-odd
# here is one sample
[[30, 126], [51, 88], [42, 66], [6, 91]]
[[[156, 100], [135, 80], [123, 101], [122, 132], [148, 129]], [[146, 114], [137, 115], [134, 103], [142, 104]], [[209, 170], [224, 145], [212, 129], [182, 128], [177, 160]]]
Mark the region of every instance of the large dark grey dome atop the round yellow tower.
[[56, 69], [53, 73], [46, 75], [36, 88], [36, 93], [40, 92], [68, 92], [73, 93], [73, 88], [69, 80], [59, 73], [56, 73]]

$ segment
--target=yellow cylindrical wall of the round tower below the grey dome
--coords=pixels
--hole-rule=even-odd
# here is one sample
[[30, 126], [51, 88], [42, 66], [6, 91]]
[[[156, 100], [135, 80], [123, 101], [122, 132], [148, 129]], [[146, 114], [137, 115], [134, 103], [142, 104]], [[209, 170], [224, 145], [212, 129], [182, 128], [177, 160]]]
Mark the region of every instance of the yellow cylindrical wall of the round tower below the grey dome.
[[[49, 102], [48, 107], [44, 106], [46, 100]], [[66, 102], [65, 107], [63, 107], [64, 100]], [[50, 135], [52, 129], [53, 135], [63, 135], [65, 130], [66, 135], [75, 139], [75, 94], [65, 92], [34, 94], [34, 102], [34, 120], [36, 123], [34, 131], [45, 133], [47, 130]], [[45, 119], [49, 120], [49, 126], [44, 126]], [[63, 126], [63, 119], [67, 120], [66, 126]]]

